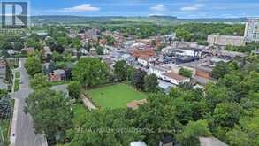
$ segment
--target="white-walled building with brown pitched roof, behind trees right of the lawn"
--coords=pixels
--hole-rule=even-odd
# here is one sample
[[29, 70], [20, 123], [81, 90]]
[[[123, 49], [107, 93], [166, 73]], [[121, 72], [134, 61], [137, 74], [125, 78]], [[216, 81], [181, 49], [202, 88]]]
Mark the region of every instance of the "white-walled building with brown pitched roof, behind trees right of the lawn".
[[184, 82], [189, 82], [190, 78], [186, 78], [184, 76], [181, 76], [177, 73], [164, 73], [162, 75], [162, 79], [164, 81], [170, 81], [171, 83], [175, 84], [175, 85], [179, 85], [179, 83], [184, 83]]

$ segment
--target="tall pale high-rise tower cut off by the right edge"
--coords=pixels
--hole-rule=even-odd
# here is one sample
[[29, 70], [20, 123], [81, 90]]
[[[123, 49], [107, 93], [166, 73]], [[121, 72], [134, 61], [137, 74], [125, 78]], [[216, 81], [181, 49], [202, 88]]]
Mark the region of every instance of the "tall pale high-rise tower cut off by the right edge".
[[248, 19], [245, 38], [246, 42], [259, 42], [259, 18]]

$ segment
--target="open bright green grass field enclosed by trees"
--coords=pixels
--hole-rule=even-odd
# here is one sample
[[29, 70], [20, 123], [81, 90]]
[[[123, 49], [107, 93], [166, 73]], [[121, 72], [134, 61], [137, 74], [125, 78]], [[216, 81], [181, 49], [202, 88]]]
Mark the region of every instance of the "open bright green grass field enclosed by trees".
[[88, 91], [88, 96], [92, 98], [95, 104], [111, 109], [126, 107], [126, 104], [133, 100], [147, 98], [145, 94], [126, 84], [91, 89]]

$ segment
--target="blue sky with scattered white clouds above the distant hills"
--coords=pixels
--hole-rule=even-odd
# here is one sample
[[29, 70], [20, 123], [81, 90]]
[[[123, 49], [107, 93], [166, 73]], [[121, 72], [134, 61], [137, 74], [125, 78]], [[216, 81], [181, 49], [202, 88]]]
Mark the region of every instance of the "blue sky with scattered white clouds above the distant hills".
[[238, 18], [259, 16], [259, 0], [30, 0], [31, 15]]

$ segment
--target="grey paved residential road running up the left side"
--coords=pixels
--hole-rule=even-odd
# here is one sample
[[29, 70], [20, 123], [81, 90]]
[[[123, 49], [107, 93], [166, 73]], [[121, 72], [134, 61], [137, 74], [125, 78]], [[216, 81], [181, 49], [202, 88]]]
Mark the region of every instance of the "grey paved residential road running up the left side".
[[[19, 59], [21, 64], [17, 71], [20, 72], [20, 89], [12, 93], [15, 99], [15, 107], [11, 124], [11, 146], [45, 146], [47, 144], [42, 135], [34, 134], [33, 120], [29, 114], [25, 114], [25, 99], [32, 92], [28, 86], [29, 77], [24, 68], [26, 58]], [[14, 134], [14, 136], [13, 136]]]

